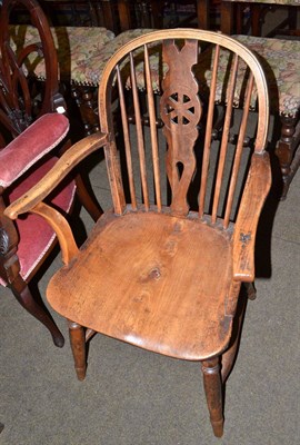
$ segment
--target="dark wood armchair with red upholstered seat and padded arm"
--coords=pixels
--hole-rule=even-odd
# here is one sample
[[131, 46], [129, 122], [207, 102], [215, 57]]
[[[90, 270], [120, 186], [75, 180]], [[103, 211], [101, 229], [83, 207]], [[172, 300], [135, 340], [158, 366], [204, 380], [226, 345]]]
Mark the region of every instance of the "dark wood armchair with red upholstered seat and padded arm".
[[[37, 27], [40, 41], [24, 44], [18, 55], [11, 47], [9, 18], [22, 4]], [[29, 55], [38, 53], [46, 66], [46, 81], [27, 76]], [[47, 19], [36, 0], [4, 0], [0, 17], [0, 285], [9, 286], [19, 303], [51, 333], [57, 346], [63, 337], [47, 308], [33, 297], [28, 284], [51, 251], [56, 234], [37, 216], [12, 224], [6, 206], [38, 182], [58, 160], [58, 149], [70, 146], [69, 120], [59, 92], [58, 61]], [[52, 152], [57, 148], [56, 152]], [[74, 195], [94, 220], [100, 207], [90, 198], [79, 175], [51, 199], [67, 214]]]

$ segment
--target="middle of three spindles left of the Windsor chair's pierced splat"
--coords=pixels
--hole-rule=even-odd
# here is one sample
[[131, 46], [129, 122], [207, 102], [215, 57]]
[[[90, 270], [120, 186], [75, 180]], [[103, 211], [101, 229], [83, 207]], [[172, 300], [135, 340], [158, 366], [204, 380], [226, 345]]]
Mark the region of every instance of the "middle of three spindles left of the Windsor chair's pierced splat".
[[149, 191], [147, 184], [147, 169], [146, 169], [146, 158], [144, 158], [144, 144], [143, 144], [143, 132], [142, 132], [142, 119], [141, 110], [139, 103], [139, 93], [137, 88], [136, 70], [132, 52], [130, 52], [130, 78], [131, 78], [131, 89], [133, 97], [133, 108], [136, 115], [136, 127], [137, 127], [137, 138], [138, 138], [138, 152], [140, 161], [140, 174], [141, 174], [141, 185], [142, 195], [146, 210], [149, 210]]

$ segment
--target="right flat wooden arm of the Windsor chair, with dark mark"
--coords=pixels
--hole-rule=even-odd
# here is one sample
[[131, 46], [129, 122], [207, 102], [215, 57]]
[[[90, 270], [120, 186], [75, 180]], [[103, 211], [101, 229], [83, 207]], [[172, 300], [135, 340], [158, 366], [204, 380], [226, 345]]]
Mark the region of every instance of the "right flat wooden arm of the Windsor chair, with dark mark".
[[254, 243], [261, 209], [271, 187], [271, 168], [266, 151], [256, 152], [244, 186], [233, 235], [233, 279], [254, 280]]

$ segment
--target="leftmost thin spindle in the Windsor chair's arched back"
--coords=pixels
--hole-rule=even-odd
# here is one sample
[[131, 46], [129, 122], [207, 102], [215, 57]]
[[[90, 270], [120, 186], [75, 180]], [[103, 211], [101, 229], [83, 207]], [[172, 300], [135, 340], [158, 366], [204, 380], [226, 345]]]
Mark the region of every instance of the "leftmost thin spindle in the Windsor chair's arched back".
[[128, 171], [131, 206], [132, 206], [133, 210], [137, 210], [137, 194], [136, 194], [136, 185], [134, 185], [134, 179], [133, 179], [132, 155], [131, 155], [130, 135], [129, 135], [129, 126], [128, 126], [128, 115], [127, 115], [127, 108], [126, 108], [126, 101], [124, 101], [124, 90], [123, 90], [123, 86], [122, 86], [119, 66], [117, 66], [116, 70], [117, 70], [117, 79], [118, 79], [119, 100], [120, 100], [121, 119], [122, 119], [122, 128], [123, 128], [124, 149], [126, 149], [126, 160], [127, 160], [127, 171]]

